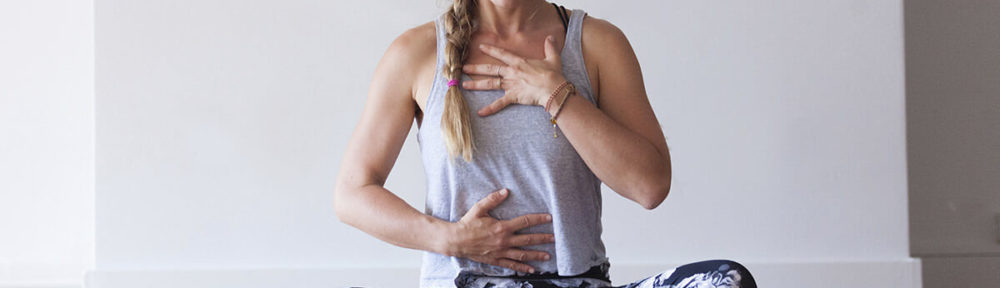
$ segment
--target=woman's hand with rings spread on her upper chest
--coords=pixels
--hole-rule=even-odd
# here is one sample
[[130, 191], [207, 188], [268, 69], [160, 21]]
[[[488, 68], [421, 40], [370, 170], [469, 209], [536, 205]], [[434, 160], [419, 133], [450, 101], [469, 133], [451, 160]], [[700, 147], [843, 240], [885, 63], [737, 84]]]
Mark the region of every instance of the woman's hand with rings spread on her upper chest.
[[545, 106], [549, 96], [566, 81], [562, 75], [562, 60], [555, 48], [552, 36], [545, 38], [545, 59], [525, 59], [499, 47], [482, 44], [479, 46], [486, 55], [504, 64], [467, 64], [466, 74], [493, 76], [489, 79], [462, 81], [468, 90], [503, 89], [504, 96], [490, 105], [479, 109], [479, 116], [487, 116], [510, 104]]

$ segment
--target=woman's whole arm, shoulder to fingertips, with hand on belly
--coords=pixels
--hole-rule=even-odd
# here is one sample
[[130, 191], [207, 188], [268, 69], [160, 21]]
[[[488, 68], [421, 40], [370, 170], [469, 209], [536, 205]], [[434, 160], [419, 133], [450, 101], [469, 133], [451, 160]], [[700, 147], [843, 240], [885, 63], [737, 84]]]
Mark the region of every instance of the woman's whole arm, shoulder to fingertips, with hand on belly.
[[427, 58], [435, 60], [424, 57], [436, 51], [433, 33], [433, 23], [407, 31], [393, 42], [375, 69], [361, 121], [351, 135], [337, 177], [337, 217], [396, 246], [533, 273], [534, 269], [522, 262], [545, 261], [551, 255], [519, 247], [552, 243], [555, 237], [515, 232], [552, 219], [548, 214], [504, 221], [491, 217], [488, 212], [507, 198], [505, 189], [494, 191], [452, 223], [417, 211], [383, 188], [416, 113], [412, 96], [419, 77], [414, 71], [420, 71]]

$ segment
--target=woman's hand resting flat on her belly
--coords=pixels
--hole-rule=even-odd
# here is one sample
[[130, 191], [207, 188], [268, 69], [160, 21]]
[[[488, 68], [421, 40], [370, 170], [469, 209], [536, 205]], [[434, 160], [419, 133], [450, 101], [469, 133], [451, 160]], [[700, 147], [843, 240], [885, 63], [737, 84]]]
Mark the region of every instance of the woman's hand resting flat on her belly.
[[551, 257], [542, 251], [518, 247], [555, 242], [553, 234], [514, 234], [521, 229], [552, 221], [549, 214], [527, 214], [510, 220], [497, 220], [488, 213], [500, 205], [510, 192], [504, 188], [494, 191], [469, 209], [462, 219], [451, 225], [448, 233], [449, 256], [515, 271], [535, 273], [525, 261], [544, 261]]

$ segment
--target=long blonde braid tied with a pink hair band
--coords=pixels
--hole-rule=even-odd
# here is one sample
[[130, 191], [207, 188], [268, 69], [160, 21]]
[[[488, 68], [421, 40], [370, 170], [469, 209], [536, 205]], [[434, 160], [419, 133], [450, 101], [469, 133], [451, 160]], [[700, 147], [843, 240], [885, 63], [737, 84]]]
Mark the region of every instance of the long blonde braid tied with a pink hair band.
[[[469, 58], [469, 43], [475, 32], [476, 0], [455, 0], [451, 9], [445, 12], [444, 27], [448, 43], [444, 49], [444, 75], [447, 79], [461, 82], [462, 65]], [[441, 134], [448, 148], [449, 158], [458, 155], [466, 162], [472, 161], [472, 123], [469, 108], [462, 96], [459, 85], [448, 87], [441, 114]]]

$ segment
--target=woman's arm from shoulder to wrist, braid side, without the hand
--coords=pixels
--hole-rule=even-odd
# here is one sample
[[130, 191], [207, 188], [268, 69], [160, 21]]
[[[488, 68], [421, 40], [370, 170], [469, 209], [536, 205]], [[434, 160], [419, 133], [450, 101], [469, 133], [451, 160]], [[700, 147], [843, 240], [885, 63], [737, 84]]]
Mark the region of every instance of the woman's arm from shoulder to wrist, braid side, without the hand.
[[[430, 33], [433, 29], [431, 26]], [[410, 55], [427, 53], [419, 51], [427, 49], [422, 47], [426, 43], [421, 43], [426, 42], [421, 33], [427, 32], [427, 27], [421, 27], [401, 35], [375, 69], [364, 112], [341, 162], [334, 208], [341, 221], [378, 239], [445, 254], [445, 243], [439, 236], [446, 222], [421, 213], [383, 188], [413, 125], [416, 105], [412, 95], [417, 78], [413, 71], [421, 59]]]

